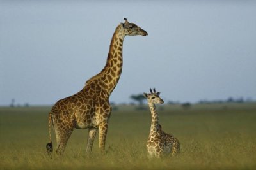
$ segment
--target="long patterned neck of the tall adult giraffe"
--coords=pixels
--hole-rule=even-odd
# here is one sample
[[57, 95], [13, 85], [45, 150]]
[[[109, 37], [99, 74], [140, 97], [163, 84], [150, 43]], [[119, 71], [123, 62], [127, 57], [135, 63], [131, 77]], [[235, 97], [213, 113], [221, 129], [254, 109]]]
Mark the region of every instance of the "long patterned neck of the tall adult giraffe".
[[124, 37], [122, 24], [120, 24], [116, 27], [111, 39], [106, 65], [99, 74], [86, 81], [86, 85], [96, 82], [109, 95], [113, 92], [122, 73]]

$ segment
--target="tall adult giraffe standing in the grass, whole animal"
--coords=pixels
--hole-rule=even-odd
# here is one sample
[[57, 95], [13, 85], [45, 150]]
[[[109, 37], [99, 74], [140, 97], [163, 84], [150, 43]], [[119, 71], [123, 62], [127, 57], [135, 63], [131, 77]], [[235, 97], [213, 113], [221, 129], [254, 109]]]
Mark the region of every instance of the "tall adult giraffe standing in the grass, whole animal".
[[86, 153], [92, 152], [93, 141], [99, 129], [99, 147], [104, 150], [108, 120], [111, 115], [109, 96], [116, 87], [122, 73], [122, 47], [125, 36], [142, 35], [147, 32], [136, 24], [119, 24], [113, 34], [108, 59], [102, 71], [86, 81], [84, 88], [76, 94], [58, 101], [49, 113], [49, 141], [47, 153], [52, 152], [51, 124], [57, 141], [57, 153], [65, 150], [67, 141], [76, 129], [89, 129]]

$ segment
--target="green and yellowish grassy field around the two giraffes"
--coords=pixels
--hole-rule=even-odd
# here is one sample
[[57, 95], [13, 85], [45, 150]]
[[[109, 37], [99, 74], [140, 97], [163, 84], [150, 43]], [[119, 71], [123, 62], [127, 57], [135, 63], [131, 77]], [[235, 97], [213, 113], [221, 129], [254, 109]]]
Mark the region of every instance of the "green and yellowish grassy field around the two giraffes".
[[92, 158], [86, 158], [88, 130], [76, 129], [65, 154], [49, 159], [50, 109], [0, 108], [0, 169], [256, 169], [255, 103], [159, 108], [163, 130], [180, 140], [181, 152], [158, 160], [147, 159], [150, 112], [132, 106], [112, 112], [106, 155], [100, 155], [96, 140]]

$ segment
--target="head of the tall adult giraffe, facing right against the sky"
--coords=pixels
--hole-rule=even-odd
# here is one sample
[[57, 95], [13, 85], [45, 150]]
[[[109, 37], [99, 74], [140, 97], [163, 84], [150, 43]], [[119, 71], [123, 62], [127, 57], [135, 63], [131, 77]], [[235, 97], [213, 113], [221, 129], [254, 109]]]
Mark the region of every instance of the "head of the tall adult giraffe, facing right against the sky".
[[148, 33], [145, 30], [141, 29], [136, 24], [128, 22], [127, 18], [124, 18], [124, 20], [125, 22], [121, 24], [124, 29], [125, 36], [137, 36], [137, 35], [147, 36], [148, 35]]

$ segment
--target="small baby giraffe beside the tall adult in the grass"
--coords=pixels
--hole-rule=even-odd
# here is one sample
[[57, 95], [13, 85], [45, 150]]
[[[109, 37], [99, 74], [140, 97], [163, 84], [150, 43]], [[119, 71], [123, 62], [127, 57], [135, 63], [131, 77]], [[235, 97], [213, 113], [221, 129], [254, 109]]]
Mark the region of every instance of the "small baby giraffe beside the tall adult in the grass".
[[151, 111], [151, 127], [147, 141], [148, 158], [162, 157], [163, 155], [171, 154], [172, 156], [180, 152], [180, 143], [177, 138], [171, 134], [166, 134], [161, 125], [158, 123], [158, 115], [155, 104], [164, 103], [159, 97], [160, 92], [156, 89], [150, 89], [150, 94], [144, 93], [147, 98], [148, 106]]

